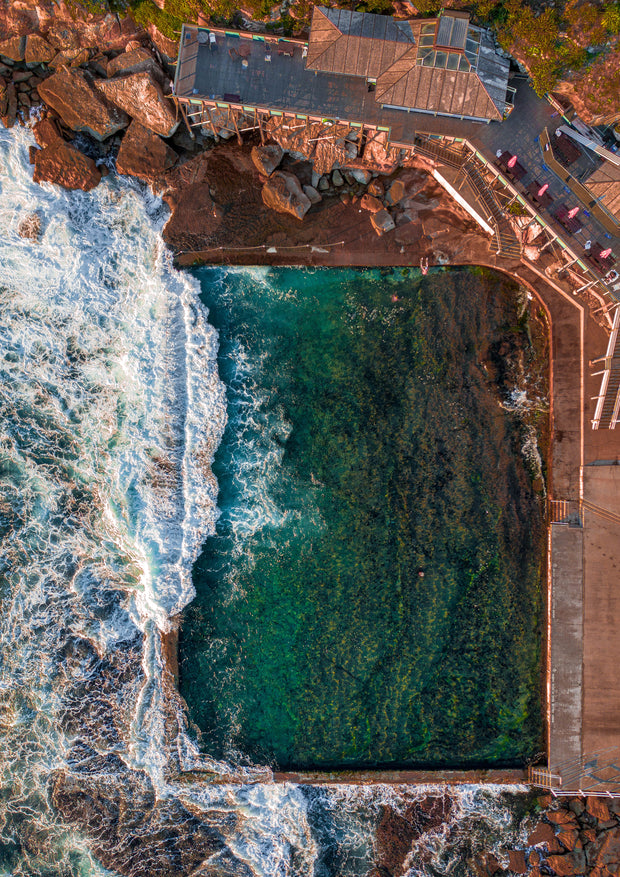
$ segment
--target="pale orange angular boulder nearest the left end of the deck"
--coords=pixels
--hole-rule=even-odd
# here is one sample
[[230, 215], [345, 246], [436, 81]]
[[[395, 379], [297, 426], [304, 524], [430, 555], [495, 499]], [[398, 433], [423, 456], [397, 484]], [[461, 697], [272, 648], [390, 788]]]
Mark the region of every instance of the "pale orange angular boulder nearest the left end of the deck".
[[95, 84], [107, 100], [160, 137], [171, 137], [176, 131], [179, 125], [176, 107], [150, 73], [130, 73]]

